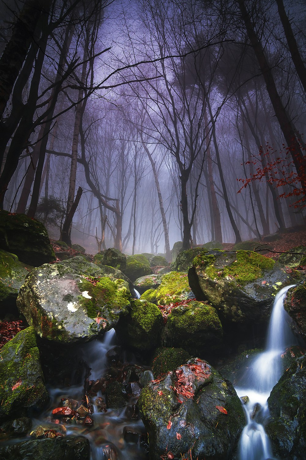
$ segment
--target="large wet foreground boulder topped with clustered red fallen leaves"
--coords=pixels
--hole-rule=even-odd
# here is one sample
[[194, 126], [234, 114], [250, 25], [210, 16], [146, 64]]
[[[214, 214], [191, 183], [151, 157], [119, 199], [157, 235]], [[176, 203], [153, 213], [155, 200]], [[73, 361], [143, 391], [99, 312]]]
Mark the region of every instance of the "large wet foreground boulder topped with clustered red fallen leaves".
[[152, 460], [227, 459], [245, 424], [232, 384], [199, 358], [145, 386], [139, 409]]

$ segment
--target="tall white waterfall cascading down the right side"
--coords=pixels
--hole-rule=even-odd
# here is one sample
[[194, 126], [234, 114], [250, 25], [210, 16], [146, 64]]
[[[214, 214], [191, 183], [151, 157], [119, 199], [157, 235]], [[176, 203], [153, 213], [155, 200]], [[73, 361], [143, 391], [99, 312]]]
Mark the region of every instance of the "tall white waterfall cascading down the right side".
[[258, 355], [250, 367], [252, 378], [245, 379], [236, 388], [239, 397], [248, 397], [244, 405], [247, 424], [239, 441], [239, 460], [269, 460], [273, 458], [264, 429], [269, 415], [267, 399], [282, 374], [282, 358], [286, 348], [296, 339], [289, 328], [291, 318], [284, 310], [284, 298], [289, 288], [281, 289], [275, 297], [269, 322], [266, 350]]

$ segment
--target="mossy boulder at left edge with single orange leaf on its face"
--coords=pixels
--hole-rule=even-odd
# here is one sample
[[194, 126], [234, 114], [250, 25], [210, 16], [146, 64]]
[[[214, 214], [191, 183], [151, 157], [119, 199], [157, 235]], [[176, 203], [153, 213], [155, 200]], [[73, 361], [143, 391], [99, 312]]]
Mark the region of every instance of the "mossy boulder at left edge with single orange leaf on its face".
[[48, 402], [33, 328], [18, 332], [0, 351], [0, 420]]

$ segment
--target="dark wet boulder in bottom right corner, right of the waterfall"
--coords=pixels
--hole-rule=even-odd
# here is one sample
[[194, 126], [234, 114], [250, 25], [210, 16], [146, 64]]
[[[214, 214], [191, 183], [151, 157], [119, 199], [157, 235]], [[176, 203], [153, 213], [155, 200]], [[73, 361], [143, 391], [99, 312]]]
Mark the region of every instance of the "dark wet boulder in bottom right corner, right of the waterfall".
[[306, 357], [284, 372], [268, 398], [266, 426], [278, 459], [304, 460], [306, 452]]

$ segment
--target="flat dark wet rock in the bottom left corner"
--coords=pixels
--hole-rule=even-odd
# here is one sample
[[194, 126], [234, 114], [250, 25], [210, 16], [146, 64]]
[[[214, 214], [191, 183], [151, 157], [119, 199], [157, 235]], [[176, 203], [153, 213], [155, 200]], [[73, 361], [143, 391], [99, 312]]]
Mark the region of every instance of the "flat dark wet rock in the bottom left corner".
[[31, 439], [17, 444], [2, 444], [2, 460], [89, 460], [89, 440], [83, 436]]

